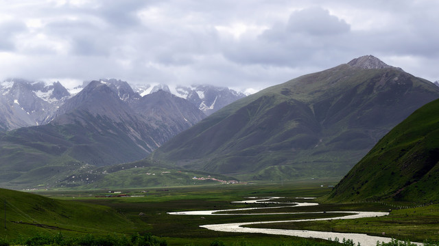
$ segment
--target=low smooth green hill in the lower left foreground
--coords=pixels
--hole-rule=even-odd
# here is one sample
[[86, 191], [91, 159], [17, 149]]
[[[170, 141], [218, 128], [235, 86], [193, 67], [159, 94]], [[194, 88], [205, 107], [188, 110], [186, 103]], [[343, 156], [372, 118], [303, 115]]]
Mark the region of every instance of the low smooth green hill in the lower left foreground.
[[141, 228], [134, 228], [132, 221], [107, 206], [54, 200], [8, 189], [0, 189], [0, 202], [0, 238], [56, 235], [58, 232], [77, 236], [142, 231]]

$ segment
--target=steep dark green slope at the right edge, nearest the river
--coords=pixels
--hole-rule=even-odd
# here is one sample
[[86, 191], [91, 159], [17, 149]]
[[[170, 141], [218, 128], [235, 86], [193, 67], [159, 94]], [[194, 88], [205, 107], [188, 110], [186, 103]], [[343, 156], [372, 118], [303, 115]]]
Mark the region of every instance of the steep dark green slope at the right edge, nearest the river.
[[385, 135], [340, 181], [330, 201], [439, 201], [439, 100]]

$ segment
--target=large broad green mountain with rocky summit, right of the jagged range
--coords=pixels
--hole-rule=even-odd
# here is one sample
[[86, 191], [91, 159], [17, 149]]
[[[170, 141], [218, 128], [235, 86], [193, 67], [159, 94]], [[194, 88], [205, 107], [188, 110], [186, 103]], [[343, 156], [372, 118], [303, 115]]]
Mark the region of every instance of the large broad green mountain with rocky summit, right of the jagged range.
[[342, 176], [396, 124], [439, 97], [439, 87], [399, 68], [357, 65], [233, 102], [150, 159], [242, 179]]

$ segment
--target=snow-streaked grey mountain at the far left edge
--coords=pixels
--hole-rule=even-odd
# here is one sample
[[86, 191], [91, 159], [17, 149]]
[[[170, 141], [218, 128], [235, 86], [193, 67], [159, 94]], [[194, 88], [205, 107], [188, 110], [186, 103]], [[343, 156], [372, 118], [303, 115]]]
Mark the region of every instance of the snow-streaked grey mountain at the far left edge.
[[70, 96], [58, 81], [5, 80], [0, 83], [0, 130], [45, 124]]

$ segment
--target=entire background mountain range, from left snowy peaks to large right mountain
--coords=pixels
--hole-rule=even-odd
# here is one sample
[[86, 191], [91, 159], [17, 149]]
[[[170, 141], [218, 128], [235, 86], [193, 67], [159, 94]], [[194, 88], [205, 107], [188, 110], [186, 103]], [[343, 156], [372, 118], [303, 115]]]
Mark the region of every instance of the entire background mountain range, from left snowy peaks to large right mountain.
[[[38, 126], [0, 133], [0, 184], [93, 181], [102, 187], [126, 177], [142, 186], [152, 178], [145, 168], [173, 173], [185, 184], [195, 174], [241, 180], [341, 177], [396, 124], [439, 98], [434, 83], [371, 55], [268, 87], [207, 117], [202, 105], [214, 110], [222, 99], [242, 95], [208, 86], [148, 90], [102, 79], [84, 83], [78, 94], [45, 96], [58, 104]], [[167, 185], [163, 180], [154, 182]]]

